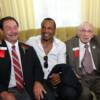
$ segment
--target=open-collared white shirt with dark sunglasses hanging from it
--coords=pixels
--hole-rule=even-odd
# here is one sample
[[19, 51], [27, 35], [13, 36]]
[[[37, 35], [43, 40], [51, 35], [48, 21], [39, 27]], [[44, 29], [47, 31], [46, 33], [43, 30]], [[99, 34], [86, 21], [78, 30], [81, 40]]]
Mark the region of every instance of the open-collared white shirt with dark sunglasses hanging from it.
[[44, 79], [47, 79], [54, 65], [66, 63], [66, 46], [62, 41], [58, 40], [57, 38], [54, 37], [53, 47], [47, 55], [48, 68], [44, 68], [44, 56], [46, 56], [46, 54], [41, 44], [41, 36], [38, 35], [31, 37], [26, 43], [33, 46], [33, 48], [35, 49], [42, 65]]

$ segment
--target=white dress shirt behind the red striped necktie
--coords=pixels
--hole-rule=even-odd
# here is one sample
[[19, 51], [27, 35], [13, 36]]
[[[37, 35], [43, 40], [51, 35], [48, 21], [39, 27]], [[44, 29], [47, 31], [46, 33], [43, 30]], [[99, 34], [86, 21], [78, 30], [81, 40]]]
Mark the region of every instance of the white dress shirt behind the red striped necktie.
[[[11, 75], [10, 75], [10, 82], [9, 82], [9, 86], [8, 86], [9, 88], [11, 88], [11, 87], [15, 87], [16, 86], [15, 72], [14, 72], [14, 67], [13, 67], [13, 63], [12, 63], [12, 46], [13, 45], [8, 41], [5, 41], [5, 42], [7, 44], [7, 48], [8, 48], [10, 57], [11, 57]], [[15, 49], [16, 49], [16, 52], [17, 52], [17, 55], [18, 55], [18, 58], [19, 58], [19, 63], [21, 64], [21, 57], [20, 57], [20, 52], [19, 52], [18, 41], [14, 45], [16, 47]]]

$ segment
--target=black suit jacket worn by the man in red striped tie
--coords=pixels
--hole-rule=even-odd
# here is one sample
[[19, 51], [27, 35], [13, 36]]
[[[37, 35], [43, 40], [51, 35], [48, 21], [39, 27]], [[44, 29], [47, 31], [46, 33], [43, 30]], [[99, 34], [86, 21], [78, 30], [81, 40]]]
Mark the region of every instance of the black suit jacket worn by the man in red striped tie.
[[[2, 50], [1, 48], [7, 50]], [[19, 51], [23, 68], [25, 88], [33, 96], [34, 80], [42, 81], [43, 72], [39, 59], [34, 49], [28, 45], [19, 42]], [[4, 41], [0, 43], [0, 92], [8, 90], [11, 75], [11, 59], [7, 45]]]

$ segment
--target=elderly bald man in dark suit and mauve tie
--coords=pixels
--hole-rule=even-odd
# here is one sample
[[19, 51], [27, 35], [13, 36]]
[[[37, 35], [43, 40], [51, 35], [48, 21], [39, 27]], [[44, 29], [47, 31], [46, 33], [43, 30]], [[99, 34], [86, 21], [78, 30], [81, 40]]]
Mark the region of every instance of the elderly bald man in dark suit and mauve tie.
[[100, 37], [95, 35], [93, 26], [82, 23], [76, 36], [66, 42], [67, 63], [83, 86], [80, 100], [92, 100], [93, 91], [100, 100]]

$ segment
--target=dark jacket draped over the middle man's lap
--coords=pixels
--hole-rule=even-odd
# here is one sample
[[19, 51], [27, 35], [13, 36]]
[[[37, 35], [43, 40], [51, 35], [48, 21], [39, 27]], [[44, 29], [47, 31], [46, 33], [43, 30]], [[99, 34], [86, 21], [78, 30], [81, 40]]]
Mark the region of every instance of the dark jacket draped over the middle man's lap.
[[[78, 95], [80, 95], [82, 91], [82, 87], [71, 68], [72, 67], [67, 64], [57, 64], [54, 66], [49, 76], [52, 73], [59, 73], [61, 77], [61, 84], [65, 85], [66, 87], [72, 87], [73, 89], [76, 90]], [[48, 78], [48, 81], [49, 81], [49, 78]]]

